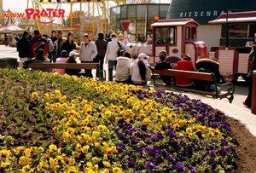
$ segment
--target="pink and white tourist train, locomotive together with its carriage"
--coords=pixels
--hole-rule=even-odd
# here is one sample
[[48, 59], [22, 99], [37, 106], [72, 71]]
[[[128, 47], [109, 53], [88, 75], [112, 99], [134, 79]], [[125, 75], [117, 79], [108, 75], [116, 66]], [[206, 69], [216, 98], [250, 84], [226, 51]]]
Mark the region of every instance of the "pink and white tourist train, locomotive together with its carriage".
[[[256, 11], [236, 12], [231, 14], [220, 14], [216, 20], [209, 21], [210, 24], [230, 23], [250, 23], [256, 26]], [[204, 41], [197, 41], [197, 27], [199, 24], [192, 18], [158, 20], [151, 25], [152, 41], [150, 43], [130, 43], [129, 50], [131, 55], [146, 53], [151, 57], [149, 61], [152, 65], [159, 61], [158, 53], [160, 50], [166, 50], [169, 55], [168, 61], [173, 66], [181, 59], [182, 54], [189, 54], [193, 63], [200, 57], [215, 57], [219, 62], [219, 71], [226, 82], [236, 82], [241, 76], [247, 80], [247, 73], [250, 71], [251, 64], [247, 61], [247, 55], [250, 52], [252, 42], [247, 42], [243, 47], [230, 47], [229, 30], [227, 30], [226, 46], [214, 46], [207, 49]], [[254, 35], [256, 27], [250, 29], [247, 35]]]

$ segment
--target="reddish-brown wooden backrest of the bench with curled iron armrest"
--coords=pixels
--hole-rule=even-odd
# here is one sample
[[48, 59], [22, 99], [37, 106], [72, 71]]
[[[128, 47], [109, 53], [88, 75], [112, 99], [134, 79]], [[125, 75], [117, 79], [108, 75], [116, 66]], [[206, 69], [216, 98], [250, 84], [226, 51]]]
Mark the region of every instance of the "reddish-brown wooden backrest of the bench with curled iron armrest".
[[154, 73], [159, 75], [172, 76], [172, 77], [193, 78], [193, 79], [215, 82], [214, 73], [208, 73], [208, 72], [190, 72], [190, 71], [174, 70], [174, 69], [165, 69], [165, 70], [154, 69]]

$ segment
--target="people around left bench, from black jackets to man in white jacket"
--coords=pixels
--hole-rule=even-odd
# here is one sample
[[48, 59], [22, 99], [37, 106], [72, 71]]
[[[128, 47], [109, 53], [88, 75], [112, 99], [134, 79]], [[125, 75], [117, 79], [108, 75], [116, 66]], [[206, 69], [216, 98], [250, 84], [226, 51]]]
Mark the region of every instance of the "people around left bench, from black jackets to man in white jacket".
[[[76, 44], [74, 43], [74, 37], [75, 35], [73, 32], [68, 32], [66, 38], [62, 36], [61, 31], [56, 32], [55, 30], [51, 32], [51, 37], [49, 37], [48, 34], [41, 34], [38, 30], [35, 30], [32, 36], [32, 33], [27, 30], [23, 33], [23, 36], [17, 43], [17, 51], [19, 53], [20, 61], [29, 63], [32, 61], [38, 62], [39, 60], [44, 60], [53, 63], [73, 63], [74, 61], [72, 60], [74, 59], [76, 61], [77, 55], [80, 55], [79, 58], [81, 63], [90, 63], [98, 60], [99, 55], [97, 55], [96, 44], [90, 42], [88, 34], [83, 35], [84, 42], [79, 51], [77, 51]], [[101, 38], [99, 38], [99, 40], [100, 39]], [[99, 45], [98, 48], [101, 49], [102, 45]], [[107, 49], [107, 43], [105, 43], [105, 47]], [[106, 49], [103, 48], [103, 51], [106, 51]], [[48, 69], [44, 69], [44, 71], [47, 72]], [[57, 69], [56, 71], [61, 74], [66, 71], [66, 73], [70, 72], [70, 70], [65, 71], [65, 69]], [[80, 70], [73, 69], [70, 73], [79, 75], [79, 72]], [[92, 77], [91, 70], [85, 70], [85, 74], [88, 77]]]

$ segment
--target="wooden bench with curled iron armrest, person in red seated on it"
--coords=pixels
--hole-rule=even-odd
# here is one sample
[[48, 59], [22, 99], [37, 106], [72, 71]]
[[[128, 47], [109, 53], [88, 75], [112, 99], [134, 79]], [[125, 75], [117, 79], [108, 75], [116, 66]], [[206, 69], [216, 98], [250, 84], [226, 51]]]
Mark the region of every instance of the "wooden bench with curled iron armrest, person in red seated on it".
[[[219, 99], [227, 98], [230, 101], [230, 103], [232, 103], [234, 99], [234, 91], [235, 91], [234, 84], [232, 83], [217, 84], [214, 73], [189, 72], [189, 71], [174, 70], [174, 69], [157, 70], [154, 68], [152, 69], [152, 71], [153, 71], [153, 78], [154, 78], [154, 86], [172, 88], [172, 89], [183, 90], [183, 91], [190, 91], [190, 92], [195, 92], [202, 95], [212, 95], [212, 97], [219, 98]], [[215, 84], [215, 90], [217, 90], [218, 87], [221, 87], [221, 86], [229, 86], [229, 88], [227, 89], [226, 92], [224, 91], [216, 92], [216, 91], [198, 90], [193, 88], [190, 89], [190, 88], [183, 88], [183, 87], [177, 87], [177, 86], [168, 86], [165, 84], [157, 84], [155, 83], [155, 76], [154, 76], [155, 74], [166, 75], [171, 77], [181, 77], [181, 78], [191, 78], [191, 79], [211, 81]]]

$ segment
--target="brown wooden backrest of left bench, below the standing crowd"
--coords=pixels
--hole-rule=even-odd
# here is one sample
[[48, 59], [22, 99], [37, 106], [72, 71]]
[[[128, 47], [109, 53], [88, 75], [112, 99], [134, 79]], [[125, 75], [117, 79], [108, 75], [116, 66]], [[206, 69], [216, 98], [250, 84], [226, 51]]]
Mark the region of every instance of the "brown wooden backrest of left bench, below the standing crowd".
[[63, 69], [98, 69], [99, 63], [49, 63], [32, 62], [27, 64], [28, 68], [63, 68]]

